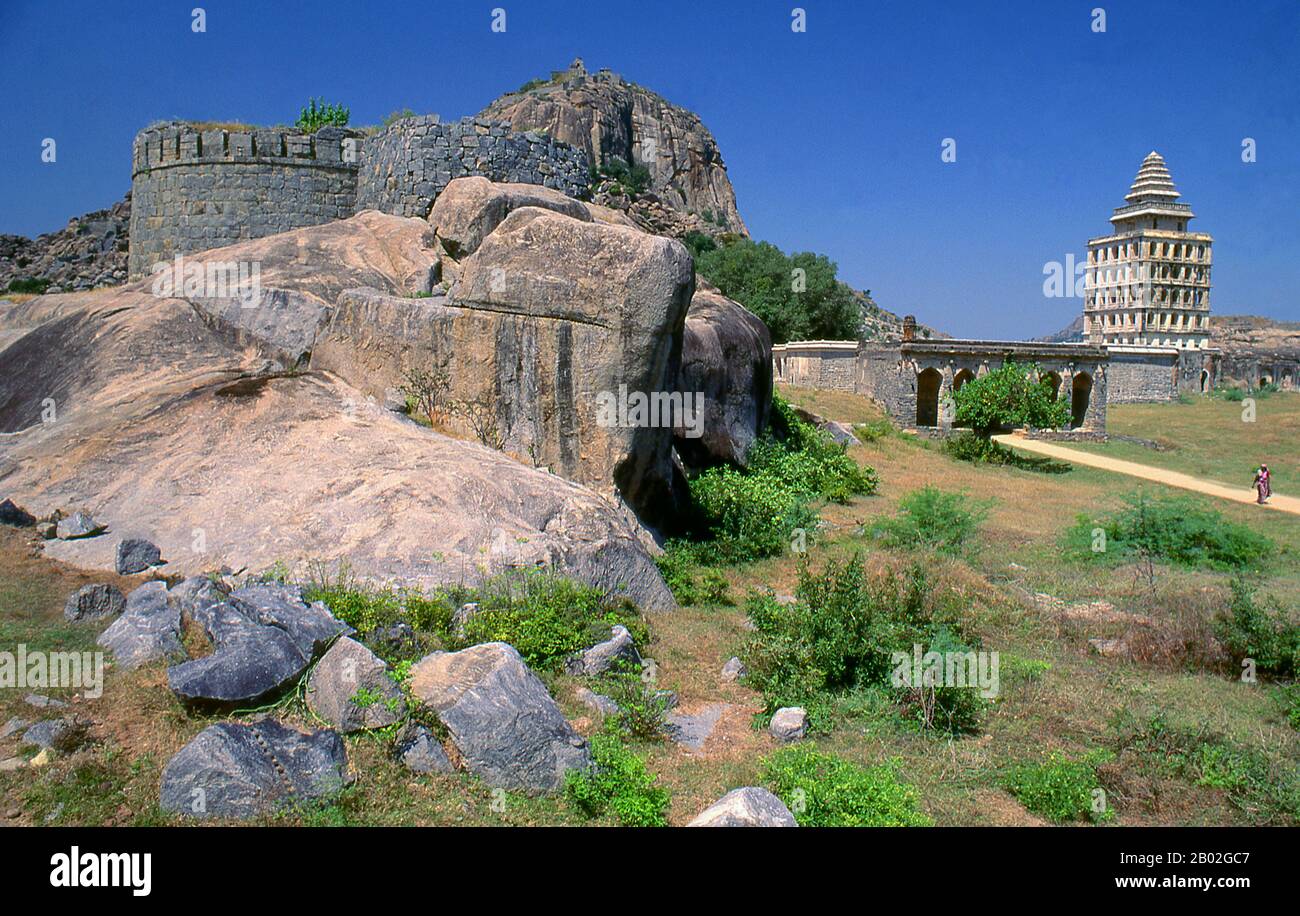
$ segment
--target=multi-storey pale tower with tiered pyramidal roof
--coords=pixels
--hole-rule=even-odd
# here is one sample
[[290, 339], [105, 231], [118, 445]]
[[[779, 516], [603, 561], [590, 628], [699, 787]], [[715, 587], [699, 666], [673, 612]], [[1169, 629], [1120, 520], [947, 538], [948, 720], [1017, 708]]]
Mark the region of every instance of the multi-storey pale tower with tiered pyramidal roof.
[[1088, 239], [1083, 329], [1110, 346], [1200, 350], [1210, 337], [1210, 246], [1188, 231], [1165, 160], [1152, 151], [1110, 217], [1110, 235]]

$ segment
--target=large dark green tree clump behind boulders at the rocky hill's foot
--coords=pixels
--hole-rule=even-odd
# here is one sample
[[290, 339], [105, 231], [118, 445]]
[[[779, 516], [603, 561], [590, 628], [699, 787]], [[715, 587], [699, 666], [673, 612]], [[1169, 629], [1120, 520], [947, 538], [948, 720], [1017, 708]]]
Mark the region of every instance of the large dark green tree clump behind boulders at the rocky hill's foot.
[[[786, 255], [768, 242], [737, 238], [701, 251], [696, 270], [724, 296], [762, 318], [772, 343], [858, 338], [858, 300], [836, 279], [835, 262], [823, 255]], [[802, 283], [796, 282], [801, 275]]]

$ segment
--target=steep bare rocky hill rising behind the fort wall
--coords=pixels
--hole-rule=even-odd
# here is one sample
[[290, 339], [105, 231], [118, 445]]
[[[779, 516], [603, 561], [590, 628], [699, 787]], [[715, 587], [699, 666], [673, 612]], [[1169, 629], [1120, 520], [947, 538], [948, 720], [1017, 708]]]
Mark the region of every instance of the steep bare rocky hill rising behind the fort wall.
[[644, 165], [645, 188], [628, 195], [627, 182], [615, 177], [597, 183], [595, 200], [629, 209], [654, 231], [748, 234], [718, 142], [699, 116], [610, 70], [590, 74], [576, 60], [550, 79], [503, 95], [480, 117], [508, 121], [515, 130], [545, 131], [585, 149], [601, 170], [615, 160]]

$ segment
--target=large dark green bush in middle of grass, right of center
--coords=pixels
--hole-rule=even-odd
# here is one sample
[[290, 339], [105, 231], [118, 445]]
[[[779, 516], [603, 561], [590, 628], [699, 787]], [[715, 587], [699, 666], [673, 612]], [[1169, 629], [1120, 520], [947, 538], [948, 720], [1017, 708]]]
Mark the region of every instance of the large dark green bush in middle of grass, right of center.
[[800, 568], [796, 600], [784, 605], [775, 596], [753, 595], [746, 605], [754, 631], [746, 637], [741, 660], [746, 682], [763, 694], [771, 713], [802, 706], [814, 729], [826, 729], [832, 700], [862, 689], [892, 689], [905, 712], [930, 704], [928, 716], [915, 716], [926, 728], [950, 733], [975, 730], [983, 699], [970, 687], [941, 687], [928, 696], [910, 687], [893, 687], [893, 652], [913, 654], [914, 644], [933, 651], [966, 646], [961, 642], [958, 602], [933, 595], [920, 565], [902, 574], [887, 569], [868, 577], [859, 557], [829, 561], [822, 573]]

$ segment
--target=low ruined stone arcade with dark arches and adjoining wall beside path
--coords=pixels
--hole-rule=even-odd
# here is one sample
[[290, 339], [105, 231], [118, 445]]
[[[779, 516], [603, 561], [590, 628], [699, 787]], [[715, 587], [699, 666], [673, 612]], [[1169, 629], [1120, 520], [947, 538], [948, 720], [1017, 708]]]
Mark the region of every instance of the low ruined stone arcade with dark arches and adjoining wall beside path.
[[772, 347], [777, 382], [866, 395], [906, 429], [952, 429], [952, 395], [1006, 360], [1036, 364], [1044, 383], [1070, 401], [1072, 435], [1106, 431], [1108, 352], [1079, 343], [915, 338], [904, 320], [902, 340], [805, 340]]

